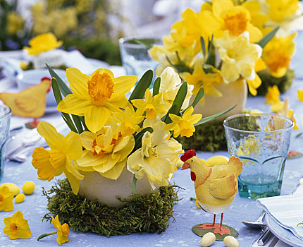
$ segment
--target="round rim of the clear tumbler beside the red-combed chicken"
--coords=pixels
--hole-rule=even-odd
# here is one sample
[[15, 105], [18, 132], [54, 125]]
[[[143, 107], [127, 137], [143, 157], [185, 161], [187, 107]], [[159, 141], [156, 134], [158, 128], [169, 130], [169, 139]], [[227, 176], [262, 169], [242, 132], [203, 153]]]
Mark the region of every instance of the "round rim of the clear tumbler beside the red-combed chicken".
[[[281, 128], [279, 130], [276, 131], [244, 131], [241, 130], [239, 128], [233, 128], [227, 125], [227, 122], [230, 121], [231, 119], [236, 119], [239, 118], [240, 116], [278, 116], [280, 119], [285, 119], [287, 121], [290, 121], [290, 125], [287, 126], [286, 128]], [[292, 119], [287, 118], [286, 116], [281, 116], [279, 114], [266, 114], [266, 113], [242, 113], [242, 114], [235, 114], [233, 116], [228, 116], [228, 118], [226, 118], [223, 121], [223, 126], [224, 128], [228, 128], [232, 131], [237, 131], [237, 132], [242, 132], [242, 133], [256, 133], [256, 134], [264, 134], [264, 133], [278, 133], [278, 132], [283, 132], [283, 131], [288, 131], [290, 129], [293, 128], [294, 126], [294, 121], [292, 121]]]

